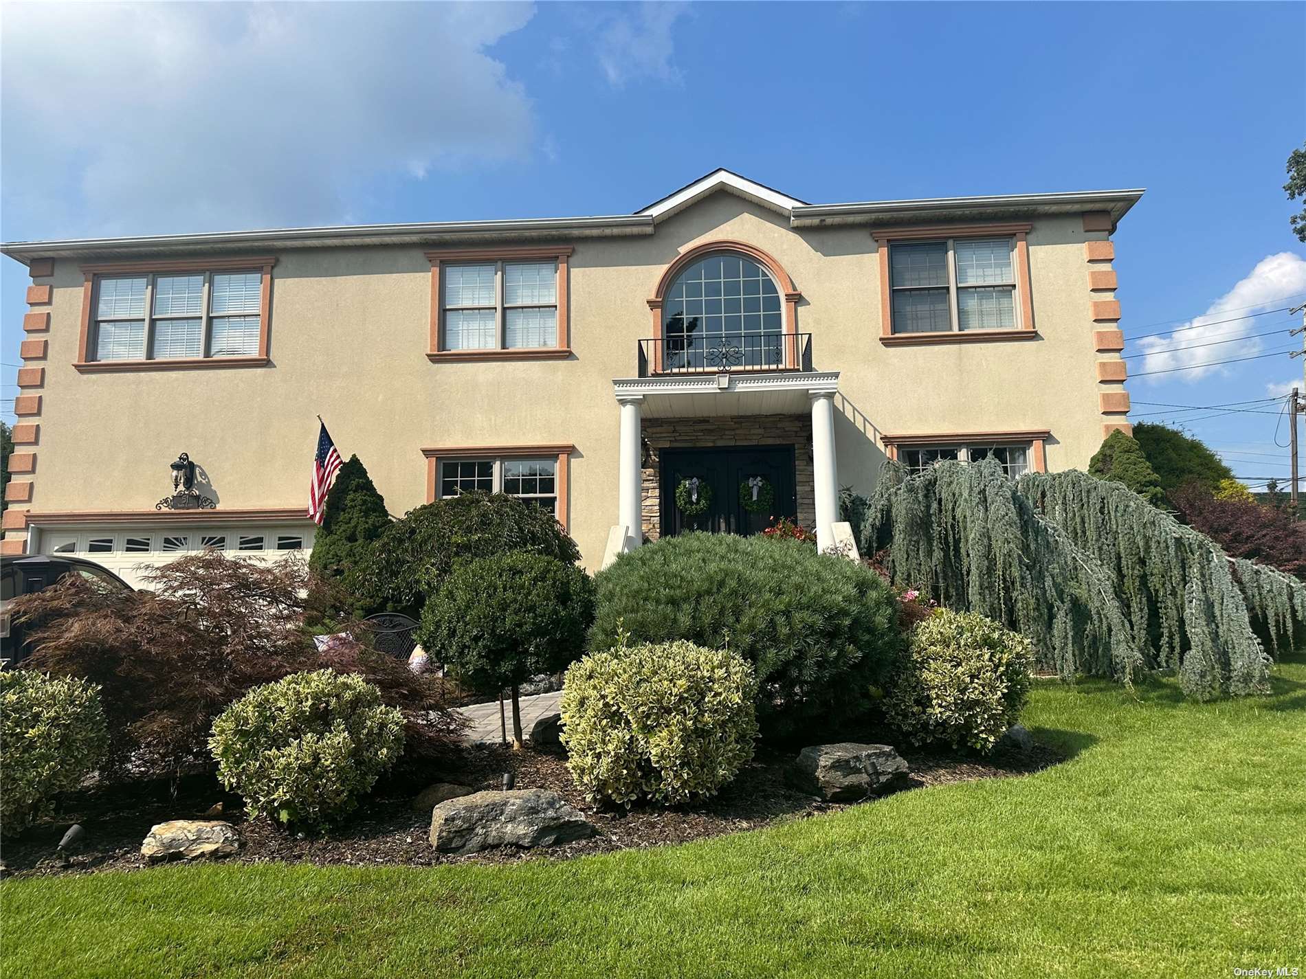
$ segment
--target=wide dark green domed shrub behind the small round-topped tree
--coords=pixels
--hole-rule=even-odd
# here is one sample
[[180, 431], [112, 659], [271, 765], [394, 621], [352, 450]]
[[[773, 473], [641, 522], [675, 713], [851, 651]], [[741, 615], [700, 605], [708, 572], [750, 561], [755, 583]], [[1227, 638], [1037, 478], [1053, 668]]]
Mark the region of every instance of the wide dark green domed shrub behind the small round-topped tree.
[[509, 551], [580, 560], [576, 542], [549, 510], [504, 493], [462, 493], [387, 526], [351, 581], [372, 607], [417, 617], [454, 561]]

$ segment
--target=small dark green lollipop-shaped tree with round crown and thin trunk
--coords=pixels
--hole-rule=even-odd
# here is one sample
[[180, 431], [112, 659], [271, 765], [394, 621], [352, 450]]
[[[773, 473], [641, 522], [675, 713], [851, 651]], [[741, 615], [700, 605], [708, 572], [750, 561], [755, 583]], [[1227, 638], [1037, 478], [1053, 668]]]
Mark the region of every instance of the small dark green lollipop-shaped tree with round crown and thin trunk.
[[585, 647], [594, 585], [539, 553], [460, 561], [426, 603], [418, 641], [470, 685], [512, 693], [512, 747], [522, 747], [518, 688], [560, 672]]

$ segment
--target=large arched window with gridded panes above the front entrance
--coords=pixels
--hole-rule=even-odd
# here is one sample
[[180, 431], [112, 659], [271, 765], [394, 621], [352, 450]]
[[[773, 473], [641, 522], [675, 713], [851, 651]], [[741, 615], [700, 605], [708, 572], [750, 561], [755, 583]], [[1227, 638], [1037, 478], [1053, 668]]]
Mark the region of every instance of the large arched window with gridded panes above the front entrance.
[[713, 252], [662, 298], [663, 369], [781, 367], [784, 330], [771, 273], [744, 255]]

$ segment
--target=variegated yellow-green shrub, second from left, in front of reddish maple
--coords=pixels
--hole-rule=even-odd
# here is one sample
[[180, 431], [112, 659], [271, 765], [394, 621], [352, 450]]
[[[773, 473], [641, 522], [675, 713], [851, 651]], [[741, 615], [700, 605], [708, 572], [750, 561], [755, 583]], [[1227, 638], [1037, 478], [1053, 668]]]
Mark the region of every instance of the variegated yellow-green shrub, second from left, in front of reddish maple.
[[360, 676], [291, 674], [227, 707], [209, 751], [249, 818], [321, 825], [354, 809], [398, 760], [404, 715]]

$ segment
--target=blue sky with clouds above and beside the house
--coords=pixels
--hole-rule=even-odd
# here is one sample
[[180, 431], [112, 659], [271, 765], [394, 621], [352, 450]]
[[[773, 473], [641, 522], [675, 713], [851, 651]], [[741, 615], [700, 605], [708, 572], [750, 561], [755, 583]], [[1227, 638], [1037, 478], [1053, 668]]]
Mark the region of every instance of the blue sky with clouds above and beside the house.
[[[626, 213], [718, 166], [812, 202], [1147, 187], [1115, 236], [1138, 337], [1306, 302], [1281, 191], [1302, 37], [1306, 4], [8, 4], [0, 238]], [[26, 278], [3, 265], [12, 398]], [[1155, 338], [1131, 372], [1292, 325]], [[1166, 411], [1139, 402], [1294, 380], [1282, 355], [1130, 390]], [[1245, 407], [1175, 418], [1286, 474], [1279, 406]]]

